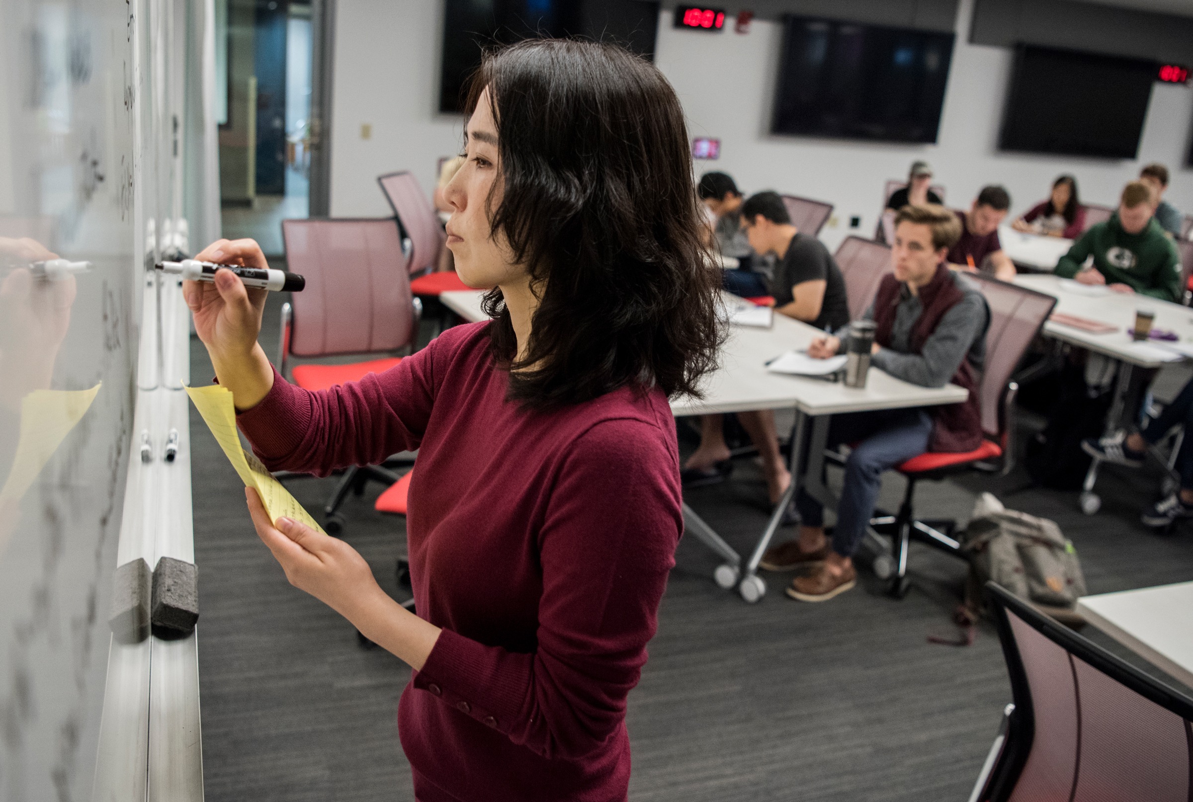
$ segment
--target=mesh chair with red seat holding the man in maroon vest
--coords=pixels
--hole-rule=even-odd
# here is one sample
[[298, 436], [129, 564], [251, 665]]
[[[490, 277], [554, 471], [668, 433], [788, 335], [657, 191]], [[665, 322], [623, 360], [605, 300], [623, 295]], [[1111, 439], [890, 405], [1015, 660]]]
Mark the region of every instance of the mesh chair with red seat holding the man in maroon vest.
[[894, 542], [892, 562], [880, 559], [876, 561], [874, 568], [880, 578], [891, 576], [890, 591], [896, 598], [907, 596], [910, 587], [907, 557], [913, 538], [950, 554], [960, 555], [960, 543], [952, 537], [954, 522], [916, 520], [913, 508], [916, 483], [921, 480], [941, 480], [962, 470], [988, 467], [991, 461], [997, 459], [1002, 462], [1003, 474], [1010, 470], [1014, 463], [1013, 408], [1015, 394], [1019, 391], [1019, 385], [1010, 381], [1010, 377], [1026, 353], [1027, 346], [1056, 306], [1056, 298], [1051, 295], [994, 278], [982, 276], [969, 278], [981, 285], [990, 309], [990, 327], [985, 334], [985, 370], [977, 390], [984, 439], [972, 451], [928, 451], [898, 465], [897, 470], [907, 479], [903, 504], [895, 516], [879, 516], [871, 522], [874, 531], [889, 533]]

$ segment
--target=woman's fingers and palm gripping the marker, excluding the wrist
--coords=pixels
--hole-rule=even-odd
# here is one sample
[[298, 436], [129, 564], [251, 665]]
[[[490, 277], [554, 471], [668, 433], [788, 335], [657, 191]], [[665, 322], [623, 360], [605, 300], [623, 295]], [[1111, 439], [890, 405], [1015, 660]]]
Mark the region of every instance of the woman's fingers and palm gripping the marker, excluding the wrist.
[[[255, 240], [216, 240], [194, 259], [220, 265], [268, 267]], [[212, 353], [235, 358], [256, 345], [267, 290], [248, 289], [230, 271], [215, 282], [183, 282], [183, 296], [194, 315], [194, 331]]]

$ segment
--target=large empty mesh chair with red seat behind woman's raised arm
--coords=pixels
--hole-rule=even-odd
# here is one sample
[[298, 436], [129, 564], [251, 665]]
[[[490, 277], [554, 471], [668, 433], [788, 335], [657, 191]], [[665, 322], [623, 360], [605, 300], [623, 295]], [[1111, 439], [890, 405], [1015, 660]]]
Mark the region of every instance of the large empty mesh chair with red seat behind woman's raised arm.
[[[285, 220], [282, 237], [290, 270], [307, 278], [307, 289], [282, 306], [278, 372], [286, 375], [291, 357], [410, 351], [419, 333], [421, 304], [410, 296], [407, 254], [391, 218]], [[401, 357], [387, 356], [290, 369], [298, 387], [322, 390], [389, 370]], [[323, 508], [323, 528], [332, 535], [344, 526], [336, 510], [348, 491], [358, 495], [370, 479], [392, 483], [398, 476], [382, 467], [353, 467]]]

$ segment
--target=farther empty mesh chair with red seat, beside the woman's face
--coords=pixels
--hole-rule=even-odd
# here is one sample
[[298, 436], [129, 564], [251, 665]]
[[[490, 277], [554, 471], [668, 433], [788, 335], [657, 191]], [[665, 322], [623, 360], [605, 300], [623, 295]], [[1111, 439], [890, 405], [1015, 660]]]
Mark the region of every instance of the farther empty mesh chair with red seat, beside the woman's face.
[[[443, 292], [471, 290], [471, 286], [459, 280], [455, 270], [435, 272], [447, 234], [439, 224], [434, 206], [427, 200], [414, 174], [408, 169], [387, 173], [378, 175], [377, 183], [381, 184], [381, 190], [385, 193], [398, 226], [410, 240], [410, 291], [420, 298], [439, 304], [439, 295]], [[440, 306], [438, 308], [440, 328], [444, 326], [446, 314], [447, 309]]]

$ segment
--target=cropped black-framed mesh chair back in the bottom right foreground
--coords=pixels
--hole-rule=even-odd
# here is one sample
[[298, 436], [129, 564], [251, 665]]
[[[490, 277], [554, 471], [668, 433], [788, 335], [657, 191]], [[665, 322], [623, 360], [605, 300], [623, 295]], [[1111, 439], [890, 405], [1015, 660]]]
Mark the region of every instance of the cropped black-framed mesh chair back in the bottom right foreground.
[[985, 599], [1014, 703], [970, 802], [1193, 800], [1193, 698], [994, 582]]

